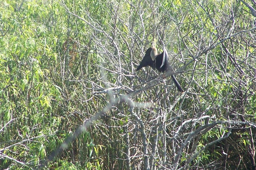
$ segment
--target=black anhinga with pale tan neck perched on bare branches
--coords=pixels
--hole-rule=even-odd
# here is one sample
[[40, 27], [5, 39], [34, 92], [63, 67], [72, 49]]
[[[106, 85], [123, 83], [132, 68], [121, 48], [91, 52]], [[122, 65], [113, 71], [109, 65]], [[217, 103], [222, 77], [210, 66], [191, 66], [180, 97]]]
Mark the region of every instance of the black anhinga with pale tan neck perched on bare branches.
[[[145, 56], [143, 57], [140, 65], [137, 67], [136, 71], [140, 70], [142, 67], [150, 66], [153, 69], [157, 69], [160, 72], [165, 72], [166, 70], [172, 70], [172, 67], [168, 63], [168, 55], [164, 48], [164, 51], [161, 54], [157, 53], [157, 49], [152, 42], [152, 48], [148, 48]], [[172, 80], [174, 84], [177, 86], [180, 92], [183, 92], [179, 82], [176, 80], [174, 75], [172, 75]]]

